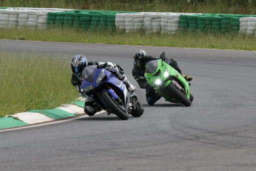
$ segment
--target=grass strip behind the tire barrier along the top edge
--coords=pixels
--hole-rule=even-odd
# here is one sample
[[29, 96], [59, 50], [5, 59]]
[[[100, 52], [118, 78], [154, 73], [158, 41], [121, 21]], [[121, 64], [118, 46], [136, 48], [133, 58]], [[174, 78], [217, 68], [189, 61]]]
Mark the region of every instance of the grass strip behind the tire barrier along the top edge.
[[69, 9], [256, 14], [256, 0], [1, 0], [0, 6]]

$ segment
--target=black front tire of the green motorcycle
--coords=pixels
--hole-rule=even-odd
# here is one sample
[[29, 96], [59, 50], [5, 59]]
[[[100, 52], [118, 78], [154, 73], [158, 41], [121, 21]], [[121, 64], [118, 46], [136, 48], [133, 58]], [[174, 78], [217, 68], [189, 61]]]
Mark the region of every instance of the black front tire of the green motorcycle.
[[169, 83], [166, 89], [167, 93], [172, 94], [177, 100], [179, 100], [185, 106], [191, 105], [190, 99], [186, 98], [186, 96], [182, 92], [180, 92], [179, 89], [172, 83]]

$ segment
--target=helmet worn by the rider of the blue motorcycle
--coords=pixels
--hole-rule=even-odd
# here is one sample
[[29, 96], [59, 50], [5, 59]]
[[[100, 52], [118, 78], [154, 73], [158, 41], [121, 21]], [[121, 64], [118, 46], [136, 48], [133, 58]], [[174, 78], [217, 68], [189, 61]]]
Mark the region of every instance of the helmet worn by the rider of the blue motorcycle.
[[71, 60], [71, 69], [72, 72], [77, 76], [81, 77], [81, 72], [83, 68], [85, 68], [88, 65], [87, 59], [82, 54], [76, 54], [73, 56]]

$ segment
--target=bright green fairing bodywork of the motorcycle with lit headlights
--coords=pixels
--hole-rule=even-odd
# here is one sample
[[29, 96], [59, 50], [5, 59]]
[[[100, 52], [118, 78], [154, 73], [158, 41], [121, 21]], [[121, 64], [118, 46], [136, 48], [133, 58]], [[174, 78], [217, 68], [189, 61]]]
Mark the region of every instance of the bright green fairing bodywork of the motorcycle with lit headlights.
[[[182, 84], [180, 84], [186, 92], [186, 97], [188, 99], [190, 99], [190, 89], [189, 89], [189, 84], [188, 82], [185, 80], [185, 78], [173, 67], [171, 67], [169, 64], [167, 64], [165, 61], [163, 61], [162, 59], [157, 59], [157, 60], [151, 60], [149, 62], [157, 62], [157, 68], [154, 70], [153, 73], [147, 73], [145, 71], [144, 73], [144, 77], [146, 78], [148, 84], [153, 87], [155, 89], [156, 92], [158, 92], [161, 96], [163, 96], [167, 101], [170, 102], [174, 102], [174, 103], [179, 103], [178, 100], [175, 99], [175, 97], [171, 97], [170, 95], [166, 94], [164, 92], [164, 88], [166, 88], [166, 86], [171, 83], [170, 79], [167, 79], [167, 77], [169, 75], [177, 78], [177, 80], [179, 80]], [[148, 62], [148, 63], [149, 63]], [[156, 65], [156, 63], [155, 63]], [[156, 72], [158, 72], [158, 70], [160, 70], [160, 74], [159, 75], [155, 75]], [[164, 72], [165, 70], [168, 72], [168, 75], [166, 77], [164, 77]], [[159, 72], [158, 72], [159, 73]], [[173, 79], [173, 77], [171, 79]], [[155, 83], [156, 79], [160, 79], [161, 80], [161, 84], [157, 85]], [[164, 88], [160, 88], [160, 86], [164, 83]], [[162, 86], [163, 87], [163, 86]]]

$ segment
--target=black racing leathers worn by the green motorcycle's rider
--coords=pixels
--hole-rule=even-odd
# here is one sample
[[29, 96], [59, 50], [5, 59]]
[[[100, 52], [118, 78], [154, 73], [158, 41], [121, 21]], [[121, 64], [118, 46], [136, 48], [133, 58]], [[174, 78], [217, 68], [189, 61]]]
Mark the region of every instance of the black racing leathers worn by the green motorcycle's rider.
[[[159, 59], [160, 57], [148, 55], [148, 61]], [[167, 58], [165, 60], [170, 66], [176, 69], [179, 73], [182, 74], [181, 68], [177, 65], [177, 62], [174, 59]], [[133, 62], [134, 66], [132, 68], [132, 76], [138, 82], [140, 88], [145, 88], [146, 90], [146, 101], [149, 105], [153, 105], [161, 96], [147, 84], [145, 79], [138, 79], [139, 77], [144, 77], [145, 67], [139, 67]]]

